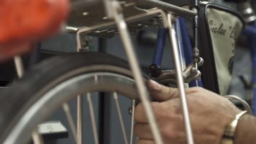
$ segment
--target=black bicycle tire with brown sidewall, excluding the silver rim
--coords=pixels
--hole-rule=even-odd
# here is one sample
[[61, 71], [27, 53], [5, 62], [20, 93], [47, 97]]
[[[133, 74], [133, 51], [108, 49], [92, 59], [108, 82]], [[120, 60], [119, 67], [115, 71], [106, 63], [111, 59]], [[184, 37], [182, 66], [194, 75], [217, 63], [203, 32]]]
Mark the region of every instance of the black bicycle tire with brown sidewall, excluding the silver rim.
[[[97, 69], [90, 69], [98, 66]], [[81, 70], [85, 68], [86, 70]], [[117, 68], [117, 69], [112, 69]], [[80, 69], [80, 71], [79, 71]], [[77, 71], [72, 73], [71, 71]], [[84, 73], [106, 71], [132, 79], [129, 64], [123, 59], [99, 52], [72, 53], [46, 59], [27, 71], [0, 97], [0, 143], [3, 143], [24, 113], [51, 88]], [[145, 76], [145, 80], [149, 79]], [[134, 86], [136, 89], [136, 86]], [[137, 94], [137, 92], [135, 93]]]

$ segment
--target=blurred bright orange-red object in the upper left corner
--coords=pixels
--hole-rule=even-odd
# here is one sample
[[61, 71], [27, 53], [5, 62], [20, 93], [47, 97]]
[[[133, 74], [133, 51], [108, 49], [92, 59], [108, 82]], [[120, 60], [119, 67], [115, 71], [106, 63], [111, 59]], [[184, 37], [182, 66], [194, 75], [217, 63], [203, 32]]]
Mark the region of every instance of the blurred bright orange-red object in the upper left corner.
[[0, 61], [59, 31], [69, 0], [0, 0]]

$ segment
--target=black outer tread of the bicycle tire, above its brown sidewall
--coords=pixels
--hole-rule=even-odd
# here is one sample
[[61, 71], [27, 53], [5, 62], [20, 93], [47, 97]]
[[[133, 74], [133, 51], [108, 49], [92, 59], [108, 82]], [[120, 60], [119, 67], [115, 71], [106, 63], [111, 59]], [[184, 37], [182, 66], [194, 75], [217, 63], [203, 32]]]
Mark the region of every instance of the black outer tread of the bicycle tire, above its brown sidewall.
[[[124, 69], [129, 68], [129, 64], [121, 58], [100, 52], [72, 53], [68, 55], [55, 56], [39, 63], [31, 70], [27, 71], [22, 79], [11, 85], [7, 91], [0, 96], [0, 130], [7, 136], [7, 129], [16, 116], [21, 115], [20, 110], [25, 105], [32, 105], [39, 98], [33, 98], [41, 88], [53, 81], [57, 77], [68, 71], [95, 64], [114, 65]], [[131, 76], [130, 76], [131, 77]], [[132, 78], [132, 77], [131, 77]], [[31, 99], [33, 98], [33, 101]], [[30, 104], [27, 104], [30, 103]], [[0, 143], [4, 136], [0, 135]]]

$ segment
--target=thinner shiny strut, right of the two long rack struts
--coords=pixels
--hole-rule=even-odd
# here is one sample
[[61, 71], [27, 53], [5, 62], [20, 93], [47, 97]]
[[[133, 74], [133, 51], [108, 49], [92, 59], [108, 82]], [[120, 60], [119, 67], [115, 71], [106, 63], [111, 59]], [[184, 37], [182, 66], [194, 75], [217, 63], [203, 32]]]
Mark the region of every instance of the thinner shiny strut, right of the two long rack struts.
[[192, 133], [191, 124], [190, 124], [188, 104], [187, 104], [187, 98], [186, 98], [185, 88], [184, 88], [184, 80], [182, 76], [182, 67], [181, 67], [181, 60], [179, 58], [178, 43], [177, 43], [175, 29], [172, 26], [172, 14], [167, 14], [167, 19], [168, 19], [170, 41], [172, 45], [172, 57], [173, 57], [174, 65], [176, 68], [177, 86], [178, 86], [179, 95], [181, 98], [184, 125], [185, 125], [185, 131], [187, 135], [187, 143], [193, 144], [194, 143], [193, 133]]

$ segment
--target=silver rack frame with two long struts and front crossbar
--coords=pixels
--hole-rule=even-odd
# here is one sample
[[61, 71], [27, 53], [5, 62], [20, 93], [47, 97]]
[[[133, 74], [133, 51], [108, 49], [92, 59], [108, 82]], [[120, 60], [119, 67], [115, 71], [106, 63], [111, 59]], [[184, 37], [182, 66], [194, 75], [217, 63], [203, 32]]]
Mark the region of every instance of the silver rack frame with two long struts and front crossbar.
[[[154, 9], [154, 10], [150, 10], [145, 13], [131, 16], [131, 17], [128, 17], [125, 19], [124, 15], [123, 15], [122, 7], [120, 6], [119, 1], [115, 1], [115, 0], [113, 0], [113, 1], [106, 0], [106, 1], [111, 3], [110, 7], [108, 9], [111, 9], [109, 11], [112, 12], [111, 15], [113, 15], [114, 22], [107, 22], [107, 23], [103, 23], [103, 24], [100, 24], [97, 26], [92, 26], [92, 27], [79, 28], [77, 31], [77, 49], [80, 49], [80, 47], [81, 47], [80, 34], [82, 34], [82, 33], [104, 31], [105, 29], [110, 29], [110, 28], [118, 29], [121, 40], [123, 41], [123, 44], [125, 47], [127, 58], [129, 59], [129, 64], [132, 69], [133, 76], [135, 77], [135, 80], [136, 80], [136, 84], [138, 87], [138, 92], [139, 92], [141, 101], [142, 101], [144, 109], [147, 113], [147, 117], [149, 120], [150, 128], [152, 129], [152, 132], [153, 132], [155, 143], [161, 144], [161, 143], [163, 143], [163, 141], [162, 141], [161, 135], [159, 133], [159, 129], [157, 127], [154, 115], [152, 113], [153, 110], [152, 110], [152, 107], [150, 106], [150, 101], [147, 97], [148, 93], [147, 93], [146, 87], [145, 87], [143, 79], [142, 79], [141, 70], [139, 69], [138, 61], [135, 56], [135, 51], [133, 49], [131, 39], [129, 37], [129, 28], [127, 27], [127, 23], [129, 23], [129, 22], [136, 22], [139, 20], [145, 20], [145, 19], [149, 19], [149, 18], [152, 19], [154, 16], [158, 16], [160, 14], [164, 28], [169, 29], [170, 40], [172, 43], [172, 55], [173, 55], [174, 65], [176, 66], [175, 75], [177, 77], [177, 86], [179, 89], [179, 95], [181, 95], [181, 106], [182, 106], [182, 110], [183, 110], [184, 125], [185, 125], [186, 134], [187, 134], [187, 140], [188, 140], [189, 144], [193, 144], [194, 143], [193, 142], [193, 133], [191, 131], [187, 99], [185, 96], [183, 71], [181, 68], [181, 61], [179, 59], [176, 32], [175, 32], [174, 27], [172, 26], [174, 17], [172, 16], [171, 13], [166, 13], [164, 10]], [[169, 7], [169, 8], [170, 8], [169, 10], [172, 11], [172, 8], [171, 7]], [[180, 12], [182, 12], [182, 11], [180, 11]], [[158, 15], [156, 15], [156, 14], [158, 14]], [[194, 15], [194, 12], [192, 15]], [[193, 70], [188, 70], [189, 73], [191, 71], [193, 72]]]

